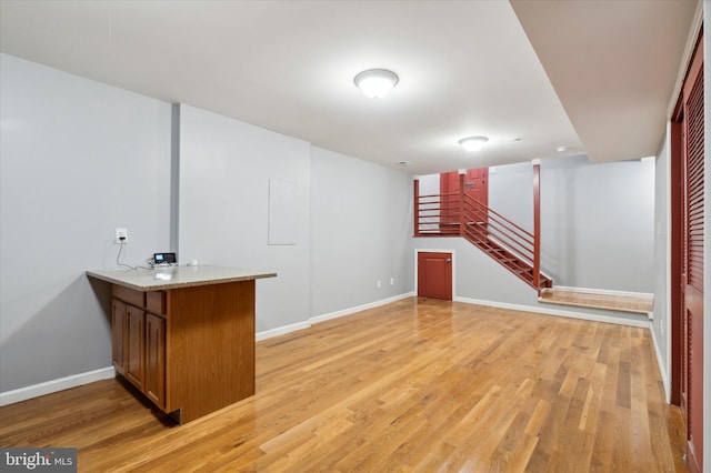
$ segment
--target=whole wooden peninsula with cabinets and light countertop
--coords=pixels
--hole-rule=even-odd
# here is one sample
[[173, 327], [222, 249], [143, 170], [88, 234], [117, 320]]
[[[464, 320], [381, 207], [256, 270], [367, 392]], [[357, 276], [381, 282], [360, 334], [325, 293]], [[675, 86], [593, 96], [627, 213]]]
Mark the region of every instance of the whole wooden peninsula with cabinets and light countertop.
[[112, 285], [112, 361], [184, 423], [254, 394], [256, 280], [213, 265], [87, 271]]

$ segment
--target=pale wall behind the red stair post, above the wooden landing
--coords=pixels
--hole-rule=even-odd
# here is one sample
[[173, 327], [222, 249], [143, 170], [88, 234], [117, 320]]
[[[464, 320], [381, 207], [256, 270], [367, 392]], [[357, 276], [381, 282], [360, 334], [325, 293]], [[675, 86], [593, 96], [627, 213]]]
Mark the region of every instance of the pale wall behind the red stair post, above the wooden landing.
[[[554, 284], [651, 293], [654, 161], [541, 161], [541, 268]], [[497, 167], [489, 205], [531, 231], [531, 163]]]

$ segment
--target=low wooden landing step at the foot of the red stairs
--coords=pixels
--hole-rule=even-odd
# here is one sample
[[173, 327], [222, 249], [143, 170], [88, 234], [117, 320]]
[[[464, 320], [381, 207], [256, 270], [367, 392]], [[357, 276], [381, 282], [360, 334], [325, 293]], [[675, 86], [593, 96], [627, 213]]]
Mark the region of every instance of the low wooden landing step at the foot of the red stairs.
[[610, 295], [575, 291], [574, 289], [548, 288], [541, 291], [539, 302], [560, 305], [575, 305], [579, 308], [604, 309], [609, 311], [649, 314], [654, 310], [654, 299], [651, 296]]

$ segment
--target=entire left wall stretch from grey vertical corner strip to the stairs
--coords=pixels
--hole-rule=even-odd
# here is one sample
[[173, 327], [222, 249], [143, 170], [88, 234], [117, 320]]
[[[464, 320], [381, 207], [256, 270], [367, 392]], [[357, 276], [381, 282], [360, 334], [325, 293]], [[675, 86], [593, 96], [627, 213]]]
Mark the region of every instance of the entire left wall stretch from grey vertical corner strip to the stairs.
[[[296, 184], [294, 244], [268, 244], [270, 180]], [[181, 105], [179, 194], [181, 261], [278, 273], [258, 332], [412, 291], [409, 174]]]

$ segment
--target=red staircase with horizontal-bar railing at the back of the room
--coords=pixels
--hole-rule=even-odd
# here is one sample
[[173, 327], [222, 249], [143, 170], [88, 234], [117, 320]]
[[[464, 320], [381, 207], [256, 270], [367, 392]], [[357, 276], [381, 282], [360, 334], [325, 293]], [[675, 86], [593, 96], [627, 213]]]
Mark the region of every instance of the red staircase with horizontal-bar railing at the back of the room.
[[552, 288], [540, 271], [537, 235], [463, 192], [419, 195], [415, 181], [414, 195], [415, 236], [462, 236], [539, 294]]

